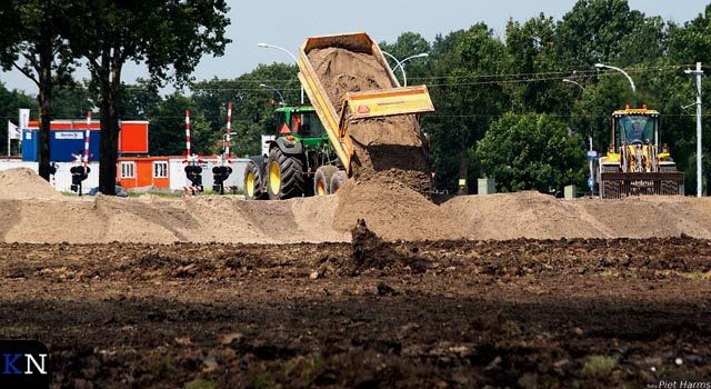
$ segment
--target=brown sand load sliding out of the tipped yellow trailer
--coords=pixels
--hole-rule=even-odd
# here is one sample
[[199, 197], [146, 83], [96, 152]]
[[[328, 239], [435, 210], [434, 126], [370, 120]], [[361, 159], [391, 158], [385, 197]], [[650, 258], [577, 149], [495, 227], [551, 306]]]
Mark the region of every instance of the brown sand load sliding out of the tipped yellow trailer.
[[[388, 69], [373, 56], [351, 51], [348, 44], [313, 49], [308, 58], [337, 112], [346, 92], [395, 87]], [[430, 190], [428, 156], [413, 116], [347, 120], [347, 131], [354, 146], [352, 178], [385, 183], [398, 180], [420, 193]]]

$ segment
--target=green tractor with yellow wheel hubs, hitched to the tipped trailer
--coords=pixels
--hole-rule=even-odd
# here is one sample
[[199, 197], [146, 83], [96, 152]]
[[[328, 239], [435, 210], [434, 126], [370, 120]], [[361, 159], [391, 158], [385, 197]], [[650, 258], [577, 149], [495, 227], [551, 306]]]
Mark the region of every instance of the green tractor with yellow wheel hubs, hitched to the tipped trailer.
[[277, 134], [244, 169], [248, 200], [329, 194], [348, 179], [323, 124], [310, 106], [276, 109]]

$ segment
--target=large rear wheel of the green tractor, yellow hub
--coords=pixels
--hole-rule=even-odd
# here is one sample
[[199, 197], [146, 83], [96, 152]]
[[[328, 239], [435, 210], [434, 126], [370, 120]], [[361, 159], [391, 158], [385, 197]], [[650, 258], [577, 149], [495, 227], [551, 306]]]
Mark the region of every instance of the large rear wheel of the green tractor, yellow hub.
[[267, 176], [270, 200], [303, 196], [303, 163], [298, 157], [284, 154], [278, 147], [269, 151]]

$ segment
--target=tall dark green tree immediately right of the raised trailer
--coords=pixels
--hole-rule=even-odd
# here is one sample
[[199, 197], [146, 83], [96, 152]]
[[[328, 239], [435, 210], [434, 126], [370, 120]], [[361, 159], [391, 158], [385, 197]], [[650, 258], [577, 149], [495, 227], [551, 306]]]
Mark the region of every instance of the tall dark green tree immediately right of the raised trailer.
[[458, 179], [470, 182], [480, 167], [470, 158], [492, 120], [507, 107], [508, 98], [499, 83], [505, 59], [503, 42], [485, 24], [472, 26], [438, 37], [432, 48], [434, 83], [431, 96], [437, 109], [424, 116], [423, 127], [432, 142], [432, 168], [439, 187], [454, 189]]

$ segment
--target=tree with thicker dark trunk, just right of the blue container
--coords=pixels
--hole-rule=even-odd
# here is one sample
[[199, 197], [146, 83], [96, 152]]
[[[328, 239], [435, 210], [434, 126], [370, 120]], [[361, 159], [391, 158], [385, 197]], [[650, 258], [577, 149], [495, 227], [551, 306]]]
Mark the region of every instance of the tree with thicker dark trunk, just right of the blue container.
[[73, 4], [68, 23], [81, 39], [70, 43], [87, 59], [100, 96], [99, 189], [114, 194], [123, 64], [144, 62], [158, 86], [186, 84], [203, 54], [221, 56], [230, 42], [224, 37], [229, 8], [224, 0], [77, 0]]

